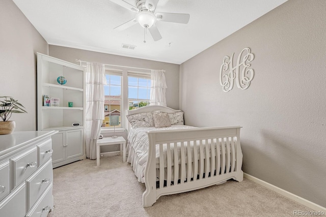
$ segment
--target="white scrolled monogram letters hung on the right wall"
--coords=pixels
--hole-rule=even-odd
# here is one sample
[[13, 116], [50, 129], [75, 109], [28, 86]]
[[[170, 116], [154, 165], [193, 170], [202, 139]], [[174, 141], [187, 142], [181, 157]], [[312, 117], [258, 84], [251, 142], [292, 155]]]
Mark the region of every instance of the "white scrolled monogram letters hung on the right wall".
[[[247, 54], [242, 56], [244, 51], [246, 51]], [[231, 58], [229, 56], [225, 56], [223, 59], [223, 64], [221, 65], [220, 84], [222, 85], [224, 92], [228, 92], [233, 88], [234, 79], [238, 88], [247, 89], [251, 80], [254, 78], [254, 70], [248, 69], [250, 64], [246, 64], [247, 61], [251, 62], [254, 60], [254, 54], [250, 53], [250, 49], [247, 47], [240, 52], [235, 67], [233, 67], [233, 56], [234, 53], [232, 53]], [[243, 66], [243, 68], [240, 72], [241, 66]]]

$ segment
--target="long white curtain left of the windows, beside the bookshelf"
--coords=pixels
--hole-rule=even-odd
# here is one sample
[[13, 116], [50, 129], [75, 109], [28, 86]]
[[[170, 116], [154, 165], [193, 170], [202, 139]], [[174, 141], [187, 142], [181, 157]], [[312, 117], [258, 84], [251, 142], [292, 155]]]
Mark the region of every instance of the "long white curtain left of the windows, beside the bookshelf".
[[87, 63], [86, 82], [86, 157], [96, 159], [96, 139], [104, 118], [104, 65]]

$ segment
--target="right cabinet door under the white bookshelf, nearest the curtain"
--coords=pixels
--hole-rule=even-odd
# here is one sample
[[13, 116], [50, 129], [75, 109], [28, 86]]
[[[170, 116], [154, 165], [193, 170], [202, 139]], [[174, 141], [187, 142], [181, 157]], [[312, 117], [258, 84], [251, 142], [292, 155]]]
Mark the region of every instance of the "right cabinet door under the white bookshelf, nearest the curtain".
[[[66, 131], [67, 159], [82, 156], [84, 149], [83, 129]], [[54, 152], [54, 151], [53, 151]]]

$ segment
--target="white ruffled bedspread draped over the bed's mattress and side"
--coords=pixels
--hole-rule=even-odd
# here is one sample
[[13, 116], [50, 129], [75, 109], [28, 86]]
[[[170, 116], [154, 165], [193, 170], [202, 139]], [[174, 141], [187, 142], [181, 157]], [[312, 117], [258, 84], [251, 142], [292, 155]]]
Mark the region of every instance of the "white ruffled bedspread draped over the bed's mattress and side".
[[[135, 175], [139, 181], [145, 182], [144, 173], [146, 168], [146, 162], [148, 158], [148, 131], [164, 131], [164, 130], [180, 130], [180, 129], [192, 129], [195, 127], [187, 125], [172, 125], [166, 128], [155, 128], [155, 127], [141, 127], [131, 128], [128, 132], [128, 159], [127, 162], [131, 164]], [[156, 153], [158, 158], [158, 153]]]

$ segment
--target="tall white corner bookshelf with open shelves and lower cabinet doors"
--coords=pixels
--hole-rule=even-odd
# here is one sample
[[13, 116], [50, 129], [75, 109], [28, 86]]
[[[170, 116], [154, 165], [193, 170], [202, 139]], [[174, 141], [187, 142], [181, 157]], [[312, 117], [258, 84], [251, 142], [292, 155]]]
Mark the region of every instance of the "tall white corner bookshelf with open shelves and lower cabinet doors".
[[[67, 83], [57, 82], [64, 76]], [[57, 130], [52, 136], [53, 168], [85, 159], [84, 125], [86, 69], [68, 61], [37, 53], [37, 128]], [[44, 95], [59, 99], [58, 106], [44, 106]], [[73, 107], [68, 106], [73, 103]], [[50, 104], [51, 105], [51, 104]], [[72, 126], [79, 123], [79, 126]]]

